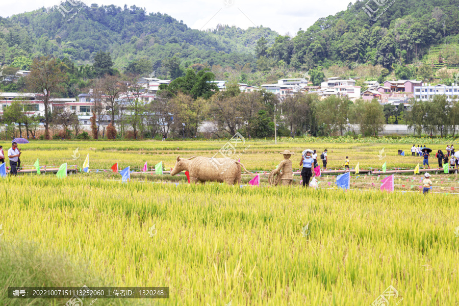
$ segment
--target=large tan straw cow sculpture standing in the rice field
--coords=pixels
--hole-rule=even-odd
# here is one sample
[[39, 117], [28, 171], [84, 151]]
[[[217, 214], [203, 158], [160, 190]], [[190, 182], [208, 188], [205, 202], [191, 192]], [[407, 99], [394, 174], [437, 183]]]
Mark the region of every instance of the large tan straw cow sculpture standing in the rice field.
[[[247, 173], [247, 169], [240, 162], [229, 158], [208, 158], [191, 157], [188, 159], [177, 157], [175, 166], [170, 175], [175, 175], [182, 171], [190, 173], [190, 183], [219, 182], [228, 185], [239, 185], [241, 183], [241, 167]], [[252, 176], [254, 174], [250, 173]]]

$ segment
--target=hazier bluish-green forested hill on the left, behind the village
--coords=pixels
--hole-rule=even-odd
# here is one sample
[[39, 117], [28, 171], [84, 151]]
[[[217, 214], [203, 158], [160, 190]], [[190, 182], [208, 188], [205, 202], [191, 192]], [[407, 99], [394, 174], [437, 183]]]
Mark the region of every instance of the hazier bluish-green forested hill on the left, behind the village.
[[[67, 11], [72, 8], [68, 3], [63, 6]], [[154, 65], [152, 68], [157, 69], [164, 59], [174, 55], [187, 61], [182, 62], [186, 66], [206, 62], [211, 66], [234, 67], [254, 63], [253, 51], [258, 39], [266, 37], [274, 42], [278, 35], [268, 28], [242, 30], [220, 26], [212, 32], [193, 30], [182, 20], [167, 14], [146, 14], [136, 6], [81, 4], [77, 8], [65, 14], [65, 18], [57, 6], [0, 17], [0, 47], [15, 48], [15, 52], [6, 52], [5, 59], [0, 55], [0, 61], [9, 65], [22, 53], [26, 57], [53, 54], [90, 63], [101, 50], [111, 52], [117, 68], [147, 58]], [[72, 17], [74, 12], [78, 13]]]

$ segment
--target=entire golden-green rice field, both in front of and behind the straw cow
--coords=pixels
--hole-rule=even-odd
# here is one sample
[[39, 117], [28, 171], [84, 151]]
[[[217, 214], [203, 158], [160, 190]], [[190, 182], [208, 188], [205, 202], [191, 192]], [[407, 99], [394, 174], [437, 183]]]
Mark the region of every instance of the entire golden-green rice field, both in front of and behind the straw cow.
[[[173, 167], [179, 154], [213, 156], [223, 144], [34, 142], [20, 147], [24, 164], [37, 158], [41, 164], [70, 164], [79, 147], [80, 167], [89, 152], [91, 169], [109, 169], [115, 162], [120, 168], [141, 168], [145, 161]], [[281, 148], [298, 152], [294, 164], [304, 148], [314, 148], [246, 144], [241, 162], [249, 170], [275, 167], [283, 158]], [[382, 162], [379, 145], [326, 148], [333, 150], [330, 167], [340, 167], [346, 155], [361, 168], [380, 168], [384, 161], [388, 168], [414, 167], [420, 160], [397, 156], [398, 148], [409, 148], [396, 144], [386, 145]], [[416, 180], [396, 177], [396, 184], [419, 185], [419, 175]], [[389, 305], [459, 305], [457, 195], [383, 193], [365, 188], [376, 177], [355, 175], [354, 188], [366, 191], [176, 186], [148, 175], [123, 184], [112, 178], [99, 172], [61, 180], [36, 174], [0, 180], [0, 305], [66, 303], [8, 299], [8, 287], [83, 285], [170, 288], [169, 299], [98, 299], [96, 306], [371, 305], [389, 286], [398, 293]], [[434, 178], [434, 185], [459, 188], [456, 175]], [[326, 187], [334, 179], [321, 181]]]

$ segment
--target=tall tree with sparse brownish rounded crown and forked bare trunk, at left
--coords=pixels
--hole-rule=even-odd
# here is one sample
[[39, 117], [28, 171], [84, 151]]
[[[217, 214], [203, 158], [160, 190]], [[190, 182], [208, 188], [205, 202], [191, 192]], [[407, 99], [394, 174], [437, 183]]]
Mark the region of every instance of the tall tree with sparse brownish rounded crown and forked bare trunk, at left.
[[37, 94], [36, 99], [44, 105], [45, 139], [49, 139], [49, 113], [53, 98], [64, 90], [63, 83], [67, 82], [65, 67], [56, 58], [40, 57], [34, 59], [31, 73], [25, 83], [29, 91]]

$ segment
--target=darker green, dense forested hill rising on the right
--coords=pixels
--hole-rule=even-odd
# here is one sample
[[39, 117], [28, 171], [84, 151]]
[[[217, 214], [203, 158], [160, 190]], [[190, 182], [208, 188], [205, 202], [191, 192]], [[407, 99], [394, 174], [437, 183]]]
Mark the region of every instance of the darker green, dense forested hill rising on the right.
[[357, 1], [293, 39], [279, 39], [271, 56], [296, 68], [371, 63], [391, 69], [421, 59], [433, 44], [457, 43], [458, 6], [457, 0]]

